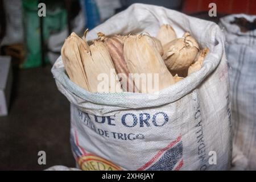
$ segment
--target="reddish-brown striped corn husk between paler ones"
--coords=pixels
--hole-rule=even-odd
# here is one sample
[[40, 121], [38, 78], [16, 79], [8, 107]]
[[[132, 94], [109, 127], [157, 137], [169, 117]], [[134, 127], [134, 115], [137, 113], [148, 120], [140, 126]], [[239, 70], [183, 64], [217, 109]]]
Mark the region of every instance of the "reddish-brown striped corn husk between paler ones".
[[109, 55], [112, 58], [115, 71], [117, 71], [121, 87], [124, 92], [139, 92], [132, 78], [129, 78], [129, 69], [125, 58], [123, 57], [123, 38], [120, 35], [106, 37], [101, 32], [98, 32], [99, 40], [104, 42], [108, 49]]

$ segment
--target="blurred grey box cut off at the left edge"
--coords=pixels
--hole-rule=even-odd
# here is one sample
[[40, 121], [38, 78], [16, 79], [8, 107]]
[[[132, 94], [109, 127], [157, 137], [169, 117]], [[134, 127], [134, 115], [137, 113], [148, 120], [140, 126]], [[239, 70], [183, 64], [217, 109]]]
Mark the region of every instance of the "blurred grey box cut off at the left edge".
[[8, 114], [12, 81], [11, 57], [0, 56], [0, 116]]

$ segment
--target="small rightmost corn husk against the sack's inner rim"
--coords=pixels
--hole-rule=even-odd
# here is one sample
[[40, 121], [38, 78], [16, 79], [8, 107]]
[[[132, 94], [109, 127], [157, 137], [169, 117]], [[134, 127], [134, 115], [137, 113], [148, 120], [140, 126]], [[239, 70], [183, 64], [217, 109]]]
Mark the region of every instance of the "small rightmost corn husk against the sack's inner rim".
[[199, 71], [199, 69], [201, 69], [203, 63], [204, 63], [204, 59], [207, 56], [207, 53], [209, 52], [208, 48], [204, 48], [203, 50], [201, 50], [195, 61], [194, 64], [192, 64], [189, 68], [188, 68], [188, 75], [191, 75], [191, 73]]

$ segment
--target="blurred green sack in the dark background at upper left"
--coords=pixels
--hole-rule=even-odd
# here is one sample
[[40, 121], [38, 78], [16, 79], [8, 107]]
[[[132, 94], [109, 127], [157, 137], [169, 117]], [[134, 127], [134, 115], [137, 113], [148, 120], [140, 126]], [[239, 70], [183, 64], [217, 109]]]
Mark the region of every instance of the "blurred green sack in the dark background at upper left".
[[[67, 11], [63, 1], [41, 1], [46, 4], [46, 16], [43, 17], [44, 44], [51, 34], [67, 27]], [[42, 65], [40, 45], [40, 17], [38, 16], [38, 1], [22, 0], [24, 20], [24, 40], [26, 43], [26, 59], [20, 68], [32, 68]], [[48, 63], [45, 52], [45, 63]]]

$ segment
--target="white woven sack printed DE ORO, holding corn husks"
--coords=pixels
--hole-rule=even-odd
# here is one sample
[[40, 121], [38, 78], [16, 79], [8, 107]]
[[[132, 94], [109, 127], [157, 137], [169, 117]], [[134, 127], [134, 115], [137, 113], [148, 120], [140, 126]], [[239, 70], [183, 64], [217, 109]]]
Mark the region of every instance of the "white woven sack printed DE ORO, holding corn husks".
[[90, 31], [88, 39], [99, 31], [154, 36], [163, 23], [178, 36], [190, 31], [210, 53], [200, 71], [158, 94], [86, 92], [69, 80], [61, 57], [53, 65], [57, 87], [71, 102], [71, 145], [81, 169], [229, 169], [228, 67], [217, 24], [134, 4]]

